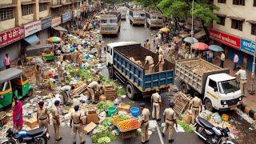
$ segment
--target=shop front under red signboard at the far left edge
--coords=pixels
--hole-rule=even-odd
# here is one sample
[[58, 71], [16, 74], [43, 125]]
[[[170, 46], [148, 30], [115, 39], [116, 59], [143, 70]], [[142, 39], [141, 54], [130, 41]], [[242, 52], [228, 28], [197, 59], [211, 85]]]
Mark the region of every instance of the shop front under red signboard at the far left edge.
[[[3, 59], [6, 54], [9, 54], [10, 61], [18, 58], [21, 48], [20, 39], [22, 38], [24, 38], [23, 26], [0, 33], [0, 59]], [[0, 68], [2, 68], [2, 62], [0, 62]]]

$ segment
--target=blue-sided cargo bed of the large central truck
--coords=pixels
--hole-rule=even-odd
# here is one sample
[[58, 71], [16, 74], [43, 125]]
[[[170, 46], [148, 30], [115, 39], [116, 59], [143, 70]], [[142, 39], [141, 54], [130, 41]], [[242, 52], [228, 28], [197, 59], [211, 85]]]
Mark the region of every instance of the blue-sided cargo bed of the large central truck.
[[[174, 82], [174, 64], [165, 60], [165, 65], [162, 72], [158, 72], [158, 66], [155, 67], [155, 72], [146, 74], [145, 68], [142, 67], [145, 63], [145, 56], [150, 55], [154, 58], [154, 64], [158, 62], [158, 54], [143, 48], [142, 46], [119, 46], [114, 48], [114, 69], [132, 82], [134, 86], [142, 92], [152, 90], [154, 88], [162, 88], [169, 86]], [[133, 57], [136, 61], [141, 61], [142, 66], [139, 66], [129, 58]]]

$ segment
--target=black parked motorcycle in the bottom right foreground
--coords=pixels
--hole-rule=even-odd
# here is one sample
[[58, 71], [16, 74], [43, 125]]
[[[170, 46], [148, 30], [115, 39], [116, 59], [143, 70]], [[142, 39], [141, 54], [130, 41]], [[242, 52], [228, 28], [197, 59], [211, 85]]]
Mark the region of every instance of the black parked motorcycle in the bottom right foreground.
[[234, 144], [229, 140], [230, 130], [226, 128], [215, 127], [206, 119], [196, 118], [195, 134], [198, 134], [206, 143], [209, 144]]

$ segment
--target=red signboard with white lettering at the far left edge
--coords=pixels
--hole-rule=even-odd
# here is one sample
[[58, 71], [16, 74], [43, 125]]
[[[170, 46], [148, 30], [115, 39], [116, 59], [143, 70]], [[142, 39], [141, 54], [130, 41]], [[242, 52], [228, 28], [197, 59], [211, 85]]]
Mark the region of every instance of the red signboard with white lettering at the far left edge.
[[0, 47], [9, 45], [10, 43], [16, 42], [21, 38], [24, 38], [23, 26], [2, 32], [0, 33]]

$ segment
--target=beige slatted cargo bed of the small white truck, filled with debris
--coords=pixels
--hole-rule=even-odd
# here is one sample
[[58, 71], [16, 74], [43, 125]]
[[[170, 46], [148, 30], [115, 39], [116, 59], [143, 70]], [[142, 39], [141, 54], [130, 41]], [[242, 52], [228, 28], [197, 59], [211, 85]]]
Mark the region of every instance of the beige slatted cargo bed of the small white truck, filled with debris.
[[179, 60], [175, 65], [175, 77], [186, 82], [200, 94], [204, 93], [208, 76], [220, 73], [229, 74], [230, 70], [222, 69], [201, 58]]

